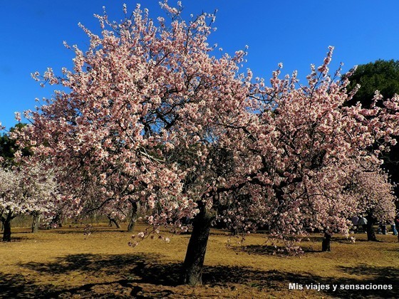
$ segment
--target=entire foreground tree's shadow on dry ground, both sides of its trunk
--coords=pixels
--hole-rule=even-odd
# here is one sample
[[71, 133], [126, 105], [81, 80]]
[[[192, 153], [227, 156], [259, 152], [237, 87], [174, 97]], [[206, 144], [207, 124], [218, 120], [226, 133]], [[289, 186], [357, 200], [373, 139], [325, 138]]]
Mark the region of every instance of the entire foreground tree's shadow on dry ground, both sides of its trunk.
[[[97, 280], [87, 281], [76, 287], [57, 287], [38, 284], [22, 275], [0, 273], [2, 298], [167, 298], [185, 295], [179, 287], [181, 263], [162, 263], [161, 256], [154, 254], [94, 255], [78, 254], [58, 258], [52, 263], [24, 263], [20, 266], [37, 272], [40, 276], [80, 275]], [[205, 266], [203, 283], [210, 287], [232, 288], [244, 285], [260, 291], [286, 291], [289, 284], [329, 285], [329, 290], [315, 291], [316, 295], [338, 298], [399, 298], [399, 269], [360, 265], [339, 268], [353, 278], [314, 276], [311, 273], [259, 271], [249, 267]], [[358, 276], [367, 274], [368, 280]], [[33, 276], [34, 277], [34, 276]], [[333, 285], [338, 285], [333, 291]], [[343, 289], [341, 289], [341, 285]], [[351, 290], [346, 285], [392, 285], [386, 290]], [[351, 288], [351, 287], [348, 287]], [[296, 293], [298, 294], [298, 293]], [[293, 294], [294, 295], [294, 294]], [[305, 294], [304, 294], [305, 295]], [[91, 298], [91, 297], [90, 297]]]

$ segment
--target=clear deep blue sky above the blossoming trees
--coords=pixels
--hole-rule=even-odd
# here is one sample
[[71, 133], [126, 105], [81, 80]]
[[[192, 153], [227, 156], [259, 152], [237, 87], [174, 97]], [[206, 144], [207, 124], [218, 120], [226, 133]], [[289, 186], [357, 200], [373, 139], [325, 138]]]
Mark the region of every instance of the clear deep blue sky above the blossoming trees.
[[[88, 38], [78, 22], [97, 30], [93, 14], [106, 6], [110, 19], [123, 18], [128, 0], [21, 0], [0, 1], [0, 122], [16, 124], [14, 112], [33, 109], [35, 98], [49, 97], [53, 86], [40, 88], [31, 79], [36, 70], [52, 67], [61, 73], [71, 67], [73, 53], [63, 41], [86, 48]], [[158, 0], [142, 0], [153, 19], [160, 14]], [[170, 0], [170, 4], [175, 4]], [[399, 59], [398, 0], [185, 0], [185, 16], [218, 9], [211, 42], [227, 53], [249, 46], [247, 67], [255, 76], [268, 79], [279, 62], [283, 74], [323, 61], [328, 46], [335, 46], [333, 65], [342, 61], [344, 70], [377, 59]]]

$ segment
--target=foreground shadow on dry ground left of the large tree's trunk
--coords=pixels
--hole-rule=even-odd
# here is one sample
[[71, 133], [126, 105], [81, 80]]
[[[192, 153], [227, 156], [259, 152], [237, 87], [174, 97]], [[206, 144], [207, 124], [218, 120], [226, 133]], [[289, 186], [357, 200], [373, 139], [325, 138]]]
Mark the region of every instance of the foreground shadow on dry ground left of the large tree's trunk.
[[[37, 293], [43, 298], [60, 298], [73, 296], [93, 296], [95, 298], [165, 298], [175, 293], [172, 290], [161, 288], [159, 290], [143, 290], [139, 285], [146, 283], [151, 285], [176, 286], [179, 284], [180, 264], [162, 264], [155, 254], [122, 254], [122, 255], [97, 255], [75, 254], [57, 258], [51, 263], [21, 263], [19, 266], [36, 271], [42, 276], [68, 276], [73, 273], [76, 276], [97, 278], [88, 280], [87, 283], [75, 288], [52, 288], [48, 290], [35, 285], [26, 284], [24, 276], [19, 279], [9, 279], [2, 285], [4, 298], [16, 297], [19, 285], [30, 285], [21, 288], [20, 297], [27, 297]], [[117, 279], [113, 279], [117, 278]], [[0, 273], [0, 280], [4, 280]], [[100, 280], [100, 281], [99, 281]], [[104, 281], [108, 280], [108, 281]], [[110, 280], [110, 281], [109, 281]], [[96, 293], [96, 290], [100, 293]], [[1, 295], [0, 295], [1, 298]], [[91, 298], [91, 297], [90, 297]]]

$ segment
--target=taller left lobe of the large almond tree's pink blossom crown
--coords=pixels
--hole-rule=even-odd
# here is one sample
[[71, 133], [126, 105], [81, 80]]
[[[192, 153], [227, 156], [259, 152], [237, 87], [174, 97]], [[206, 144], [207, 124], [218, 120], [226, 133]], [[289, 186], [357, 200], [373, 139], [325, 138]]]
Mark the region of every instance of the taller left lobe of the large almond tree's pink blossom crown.
[[203, 143], [215, 135], [209, 107], [244, 107], [245, 88], [236, 78], [244, 53], [210, 57], [207, 22], [214, 16], [186, 23], [178, 9], [162, 6], [171, 23], [159, 18], [155, 26], [138, 7], [120, 24], [98, 16], [101, 37], [83, 27], [90, 48], [73, 47], [73, 71], [64, 69], [62, 78], [51, 69], [44, 73], [71, 92], [58, 91], [37, 112], [26, 112], [32, 125], [21, 137], [35, 145], [36, 159], [48, 158], [59, 169], [58, 182], [72, 190], [76, 204], [83, 206], [86, 186], [95, 185], [98, 206], [142, 201], [154, 211], [151, 224], [172, 221], [179, 228], [181, 219], [195, 217], [207, 187], [192, 192], [198, 197], [185, 192], [192, 169], [167, 159], [167, 152], [195, 143], [196, 159], [207, 161]]

